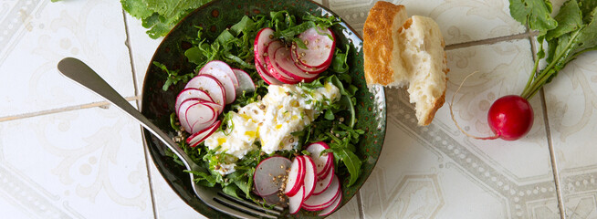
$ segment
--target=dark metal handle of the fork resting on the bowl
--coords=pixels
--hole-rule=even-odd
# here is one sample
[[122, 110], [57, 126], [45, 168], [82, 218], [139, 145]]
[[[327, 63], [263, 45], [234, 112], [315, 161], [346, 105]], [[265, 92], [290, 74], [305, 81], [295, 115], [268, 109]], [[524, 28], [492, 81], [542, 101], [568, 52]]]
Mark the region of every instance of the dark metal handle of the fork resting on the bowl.
[[134, 107], [122, 96], [116, 92], [110, 85], [96, 73], [89, 68], [81, 60], [74, 57], [66, 57], [58, 62], [58, 70], [62, 75], [66, 76], [79, 83], [83, 87], [90, 89], [102, 98], [114, 104], [120, 110], [129, 114], [133, 119], [139, 121], [145, 129], [153, 133], [159, 140], [164, 142], [170, 150], [181, 158], [182, 162], [188, 170], [197, 170], [198, 166], [189, 158], [166, 133], [160, 130], [152, 121], [148, 120], [141, 112]]

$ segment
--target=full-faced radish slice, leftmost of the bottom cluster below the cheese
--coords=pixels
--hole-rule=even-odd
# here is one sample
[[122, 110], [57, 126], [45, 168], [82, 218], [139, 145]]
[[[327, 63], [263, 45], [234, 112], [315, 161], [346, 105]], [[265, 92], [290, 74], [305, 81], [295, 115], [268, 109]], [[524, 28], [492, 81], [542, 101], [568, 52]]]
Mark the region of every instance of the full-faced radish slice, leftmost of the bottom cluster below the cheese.
[[278, 193], [285, 183], [283, 176], [286, 176], [291, 164], [288, 158], [280, 156], [269, 157], [259, 162], [253, 173], [256, 193], [261, 197]]

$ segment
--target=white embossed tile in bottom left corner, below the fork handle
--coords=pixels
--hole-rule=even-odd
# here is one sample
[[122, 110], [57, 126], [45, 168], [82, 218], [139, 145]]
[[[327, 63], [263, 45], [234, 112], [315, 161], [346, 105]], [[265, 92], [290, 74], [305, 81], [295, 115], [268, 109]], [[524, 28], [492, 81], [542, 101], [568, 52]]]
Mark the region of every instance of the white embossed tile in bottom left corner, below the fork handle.
[[0, 199], [9, 203], [0, 211], [35, 218], [151, 218], [139, 130], [115, 108], [0, 123]]

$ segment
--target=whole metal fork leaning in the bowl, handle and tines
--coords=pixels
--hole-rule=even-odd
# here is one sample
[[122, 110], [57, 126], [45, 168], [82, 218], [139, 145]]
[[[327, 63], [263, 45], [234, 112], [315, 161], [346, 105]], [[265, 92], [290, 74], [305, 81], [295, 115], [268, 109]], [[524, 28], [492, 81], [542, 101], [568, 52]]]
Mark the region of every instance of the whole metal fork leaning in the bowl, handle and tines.
[[[133, 119], [139, 121], [145, 129], [151, 131], [158, 139], [170, 148], [189, 171], [199, 170], [199, 166], [194, 163], [186, 153], [178, 147], [178, 145], [162, 130], [155, 126], [150, 120], [145, 118], [135, 108], [129, 104], [129, 102], [122, 98], [116, 90], [112, 89], [110, 85], [89, 66], [74, 57], [66, 57], [58, 62], [58, 70], [67, 78], [74, 80], [83, 87], [90, 89], [104, 99], [110, 101], [116, 107], [120, 108]], [[189, 173], [191, 178], [191, 185], [194, 193], [201, 199], [205, 204], [218, 210], [224, 214], [239, 218], [257, 218], [256, 216], [265, 218], [278, 218], [280, 212], [283, 210], [281, 207], [275, 207], [274, 209], [267, 209], [256, 203], [248, 202], [246, 200], [240, 200], [233, 196], [216, 191], [212, 188], [205, 188], [197, 183], [194, 183], [194, 174]]]

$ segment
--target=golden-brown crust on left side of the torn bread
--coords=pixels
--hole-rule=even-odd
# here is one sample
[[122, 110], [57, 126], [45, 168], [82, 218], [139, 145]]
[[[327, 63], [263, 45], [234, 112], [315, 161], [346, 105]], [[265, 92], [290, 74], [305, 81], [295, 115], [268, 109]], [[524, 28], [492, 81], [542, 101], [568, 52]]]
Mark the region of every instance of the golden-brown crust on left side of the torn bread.
[[[399, 16], [394, 24], [395, 16]], [[393, 82], [393, 26], [402, 26], [406, 20], [403, 5], [379, 1], [369, 11], [362, 27], [365, 80], [368, 85], [387, 86]]]

